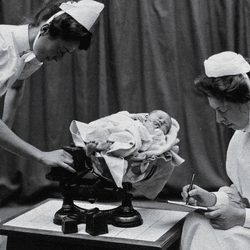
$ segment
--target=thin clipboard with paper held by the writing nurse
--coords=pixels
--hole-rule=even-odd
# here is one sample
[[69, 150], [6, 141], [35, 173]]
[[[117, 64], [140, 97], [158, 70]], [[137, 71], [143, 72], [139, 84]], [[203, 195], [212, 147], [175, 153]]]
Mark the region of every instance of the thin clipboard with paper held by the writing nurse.
[[171, 200], [157, 200], [157, 205], [160, 205], [160, 207], [163, 209], [168, 210], [175, 210], [175, 211], [181, 211], [181, 212], [197, 212], [197, 213], [205, 213], [209, 212], [207, 207], [202, 206], [192, 206], [186, 204], [184, 201], [171, 201]]

